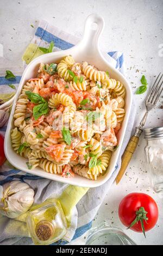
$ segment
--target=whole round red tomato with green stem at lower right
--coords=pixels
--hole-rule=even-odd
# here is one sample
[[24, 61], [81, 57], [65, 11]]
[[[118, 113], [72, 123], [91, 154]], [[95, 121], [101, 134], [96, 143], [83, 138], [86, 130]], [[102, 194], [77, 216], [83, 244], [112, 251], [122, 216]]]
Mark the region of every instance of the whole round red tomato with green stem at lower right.
[[119, 205], [118, 215], [126, 227], [136, 231], [148, 231], [158, 221], [158, 206], [148, 194], [130, 193]]

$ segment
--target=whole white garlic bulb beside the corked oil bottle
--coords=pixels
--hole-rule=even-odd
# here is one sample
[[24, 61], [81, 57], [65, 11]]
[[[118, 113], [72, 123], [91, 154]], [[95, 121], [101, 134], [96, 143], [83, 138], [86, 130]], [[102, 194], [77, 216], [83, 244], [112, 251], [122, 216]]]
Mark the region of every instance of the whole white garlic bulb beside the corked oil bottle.
[[0, 213], [9, 218], [24, 214], [34, 202], [34, 190], [21, 181], [4, 184], [1, 194]]

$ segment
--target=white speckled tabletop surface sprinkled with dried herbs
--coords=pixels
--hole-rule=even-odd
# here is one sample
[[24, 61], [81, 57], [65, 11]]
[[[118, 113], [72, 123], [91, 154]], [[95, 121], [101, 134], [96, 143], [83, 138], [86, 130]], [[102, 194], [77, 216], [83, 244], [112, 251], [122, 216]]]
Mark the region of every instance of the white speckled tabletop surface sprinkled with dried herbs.
[[[0, 43], [4, 50], [4, 57], [0, 57], [1, 72], [6, 69], [23, 70], [21, 56], [33, 38], [40, 19], [45, 19], [52, 25], [80, 38], [84, 20], [91, 13], [102, 15], [105, 20], [101, 47], [106, 51], [119, 50], [124, 53], [128, 81], [131, 83], [133, 93], [135, 88], [141, 85], [142, 74], [145, 74], [149, 88], [154, 81], [154, 76], [163, 71], [163, 57], [161, 57], [163, 50], [159, 48], [163, 46], [161, 45], [163, 44], [162, 0], [0, 0], [0, 6]], [[145, 112], [143, 103], [145, 96], [146, 93], [135, 95], [136, 125], [139, 124]], [[163, 105], [162, 97], [156, 108], [149, 113], [147, 126], [162, 125], [161, 105]], [[126, 175], [118, 186], [112, 185], [106, 194], [93, 221], [93, 226], [108, 220], [125, 230], [118, 219], [118, 204], [130, 192], [144, 192], [151, 195], [158, 203], [159, 221], [154, 229], [148, 231], [147, 239], [142, 234], [131, 230], [125, 230], [125, 232], [138, 245], [161, 245], [163, 244], [163, 193], [156, 194], [149, 186], [143, 155], [145, 144], [141, 136], [139, 147], [129, 164]], [[84, 244], [84, 241], [85, 235], [72, 244], [80, 245]]]

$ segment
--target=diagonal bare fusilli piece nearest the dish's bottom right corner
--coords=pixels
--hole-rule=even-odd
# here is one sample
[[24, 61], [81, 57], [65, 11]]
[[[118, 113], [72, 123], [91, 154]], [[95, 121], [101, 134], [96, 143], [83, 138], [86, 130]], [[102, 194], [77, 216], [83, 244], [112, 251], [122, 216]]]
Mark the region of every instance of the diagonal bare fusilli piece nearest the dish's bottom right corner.
[[111, 158], [111, 151], [104, 151], [104, 153], [98, 157], [98, 159], [101, 160], [101, 164], [90, 168], [87, 174], [93, 175], [94, 179], [97, 180], [97, 177], [99, 176], [99, 174], [106, 171], [110, 158]]

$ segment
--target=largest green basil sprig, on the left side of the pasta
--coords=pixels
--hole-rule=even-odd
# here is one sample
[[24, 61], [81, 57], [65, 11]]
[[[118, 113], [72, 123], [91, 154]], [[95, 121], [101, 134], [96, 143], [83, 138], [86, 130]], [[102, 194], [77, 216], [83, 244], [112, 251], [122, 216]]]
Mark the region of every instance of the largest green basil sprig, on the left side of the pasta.
[[32, 93], [30, 91], [26, 91], [26, 95], [28, 99], [33, 103], [38, 103], [38, 105], [34, 106], [33, 108], [33, 116], [34, 119], [37, 120], [41, 115], [47, 114], [48, 112], [48, 102], [43, 99], [39, 94]]

